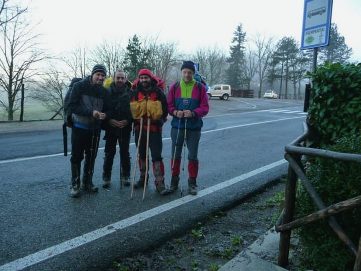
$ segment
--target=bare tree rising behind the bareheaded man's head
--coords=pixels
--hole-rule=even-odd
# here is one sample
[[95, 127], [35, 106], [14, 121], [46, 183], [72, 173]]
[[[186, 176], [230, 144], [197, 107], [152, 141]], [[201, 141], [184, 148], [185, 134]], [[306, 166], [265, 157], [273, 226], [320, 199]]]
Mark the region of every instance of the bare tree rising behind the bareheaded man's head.
[[109, 76], [113, 76], [118, 69], [123, 69], [125, 60], [125, 50], [115, 41], [109, 43], [104, 40], [90, 53], [92, 64], [103, 64], [107, 68]]

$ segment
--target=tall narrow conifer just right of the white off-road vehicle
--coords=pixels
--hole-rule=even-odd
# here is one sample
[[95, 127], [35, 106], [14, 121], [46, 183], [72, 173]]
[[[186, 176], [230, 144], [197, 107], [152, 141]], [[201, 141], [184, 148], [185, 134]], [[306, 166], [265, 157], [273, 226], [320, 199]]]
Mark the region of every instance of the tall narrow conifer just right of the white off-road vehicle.
[[245, 47], [243, 44], [246, 32], [242, 31], [242, 24], [237, 26], [237, 30], [233, 34], [232, 44], [234, 45], [230, 46], [230, 57], [227, 59], [229, 67], [226, 70], [226, 78], [232, 88], [240, 88], [245, 83], [242, 65], [245, 61]]

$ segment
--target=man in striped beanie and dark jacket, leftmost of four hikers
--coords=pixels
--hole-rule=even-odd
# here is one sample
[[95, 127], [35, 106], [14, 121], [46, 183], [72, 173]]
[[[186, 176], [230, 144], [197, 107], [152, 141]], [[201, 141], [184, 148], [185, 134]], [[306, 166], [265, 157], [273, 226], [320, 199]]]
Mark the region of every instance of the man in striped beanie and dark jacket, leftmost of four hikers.
[[73, 122], [71, 135], [71, 197], [80, 195], [81, 161], [84, 159], [82, 188], [88, 192], [98, 192], [93, 185], [94, 162], [99, 146], [101, 121], [106, 120], [110, 109], [110, 95], [103, 82], [106, 68], [97, 64], [93, 67], [91, 76], [76, 82], [69, 98], [68, 110]]

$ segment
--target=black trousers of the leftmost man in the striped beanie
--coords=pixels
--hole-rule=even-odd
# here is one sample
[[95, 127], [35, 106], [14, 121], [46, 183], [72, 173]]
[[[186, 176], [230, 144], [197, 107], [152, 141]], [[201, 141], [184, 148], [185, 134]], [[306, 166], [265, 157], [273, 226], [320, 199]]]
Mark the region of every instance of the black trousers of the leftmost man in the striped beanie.
[[89, 130], [78, 127], [72, 128], [70, 163], [80, 165], [85, 155], [83, 169], [85, 175], [92, 173], [90, 172], [91, 166], [94, 169], [95, 158], [99, 146], [100, 131], [100, 129]]

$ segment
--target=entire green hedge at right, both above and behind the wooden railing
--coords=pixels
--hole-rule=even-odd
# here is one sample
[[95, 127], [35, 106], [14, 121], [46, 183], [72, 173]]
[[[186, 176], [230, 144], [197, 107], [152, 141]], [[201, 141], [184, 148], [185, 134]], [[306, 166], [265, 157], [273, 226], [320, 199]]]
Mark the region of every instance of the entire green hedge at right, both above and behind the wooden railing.
[[[307, 73], [312, 81], [307, 123], [308, 147], [361, 154], [361, 63], [318, 67]], [[361, 195], [361, 164], [308, 157], [307, 178], [326, 206]], [[298, 186], [295, 217], [318, 211], [306, 189]], [[360, 208], [334, 216], [358, 245]], [[303, 264], [317, 271], [352, 270], [355, 257], [337, 237], [326, 219], [298, 230]]]

